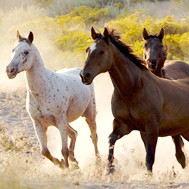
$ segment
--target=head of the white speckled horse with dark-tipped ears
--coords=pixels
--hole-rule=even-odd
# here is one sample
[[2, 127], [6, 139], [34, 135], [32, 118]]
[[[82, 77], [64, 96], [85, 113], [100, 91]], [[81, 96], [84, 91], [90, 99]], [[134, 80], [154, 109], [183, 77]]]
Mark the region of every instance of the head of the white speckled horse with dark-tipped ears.
[[34, 60], [34, 56], [31, 56], [34, 53], [32, 48], [33, 33], [30, 32], [28, 37], [24, 38], [17, 31], [17, 39], [18, 43], [12, 50], [13, 58], [6, 68], [9, 79], [13, 79], [18, 73], [30, 69]]

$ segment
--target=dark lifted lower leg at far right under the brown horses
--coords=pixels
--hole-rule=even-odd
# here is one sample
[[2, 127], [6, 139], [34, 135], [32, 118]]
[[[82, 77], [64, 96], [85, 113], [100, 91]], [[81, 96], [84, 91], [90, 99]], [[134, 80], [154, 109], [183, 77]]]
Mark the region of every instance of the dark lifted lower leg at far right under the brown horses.
[[172, 139], [175, 144], [175, 150], [176, 150], [176, 158], [177, 161], [181, 164], [182, 168], [185, 168], [186, 166], [186, 158], [184, 155], [184, 152], [182, 151], [182, 147], [184, 146], [184, 142], [180, 135], [172, 136]]

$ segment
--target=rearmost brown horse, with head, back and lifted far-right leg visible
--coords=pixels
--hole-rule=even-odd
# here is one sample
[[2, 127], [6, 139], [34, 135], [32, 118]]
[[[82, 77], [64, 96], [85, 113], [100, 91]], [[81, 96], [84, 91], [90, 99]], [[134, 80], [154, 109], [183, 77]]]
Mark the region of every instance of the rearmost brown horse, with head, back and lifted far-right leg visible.
[[[143, 39], [145, 41], [143, 48], [143, 59], [146, 65], [152, 73], [159, 77], [164, 77], [167, 79], [180, 79], [189, 76], [189, 65], [182, 61], [169, 61], [165, 64], [167, 55], [167, 48], [163, 46], [164, 29], [162, 28], [158, 35], [149, 35], [147, 30], [143, 29]], [[188, 74], [188, 75], [187, 75]], [[142, 134], [142, 133], [141, 133]], [[175, 156], [177, 161], [180, 163], [182, 168], [186, 166], [186, 158], [182, 147], [184, 142], [180, 135], [172, 136], [175, 144]]]

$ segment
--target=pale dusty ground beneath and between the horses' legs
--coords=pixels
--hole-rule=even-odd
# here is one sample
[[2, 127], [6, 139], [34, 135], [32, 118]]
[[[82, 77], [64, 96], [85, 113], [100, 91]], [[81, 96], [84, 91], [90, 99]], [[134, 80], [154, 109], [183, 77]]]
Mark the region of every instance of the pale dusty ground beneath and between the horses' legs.
[[[105, 81], [102, 81], [105, 80]], [[106, 85], [104, 85], [106, 83]], [[79, 170], [60, 170], [40, 154], [32, 123], [25, 109], [26, 91], [0, 92], [0, 188], [189, 188], [189, 168], [181, 169], [174, 156], [171, 138], [158, 141], [153, 176], [145, 171], [145, 153], [137, 132], [116, 143], [114, 175], [105, 175], [108, 135], [112, 115], [110, 98], [112, 85], [107, 75], [95, 80], [100, 165], [95, 164], [89, 130], [83, 119], [72, 126], [78, 131], [76, 158]], [[60, 157], [59, 133], [48, 131], [49, 148]], [[188, 146], [185, 141], [187, 156]], [[187, 158], [188, 164], [188, 158]]]

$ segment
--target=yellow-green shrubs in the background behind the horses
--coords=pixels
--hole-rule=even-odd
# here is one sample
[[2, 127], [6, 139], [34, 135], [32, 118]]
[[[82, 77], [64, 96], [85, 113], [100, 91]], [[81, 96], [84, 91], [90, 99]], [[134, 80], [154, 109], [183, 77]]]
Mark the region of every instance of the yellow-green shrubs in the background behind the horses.
[[[185, 6], [188, 3], [185, 0], [167, 1], [169, 2], [188, 11]], [[33, 0], [33, 3], [32, 19], [30, 15], [25, 16], [8, 30], [32, 28], [35, 33], [45, 31], [45, 35], [57, 48], [57, 58], [54, 61], [58, 59], [62, 62], [56, 65], [52, 60], [50, 67], [53, 69], [63, 66], [82, 66], [86, 57], [85, 49], [92, 42], [90, 28], [93, 26], [102, 32], [105, 25], [110, 29], [115, 29], [121, 36], [121, 40], [130, 45], [140, 57], [143, 53], [143, 28], [145, 27], [151, 34], [157, 34], [161, 28], [164, 28], [166, 33], [164, 44], [169, 49], [167, 58], [189, 60], [189, 16], [183, 19], [177, 15], [161, 16], [150, 12], [149, 7], [153, 9], [157, 0]], [[34, 11], [35, 7], [37, 7], [36, 11]], [[174, 10], [176, 12], [176, 9]], [[27, 12], [29, 11], [27, 8]], [[3, 21], [1, 23], [3, 24]], [[72, 63], [65, 65], [68, 57], [72, 57]]]

